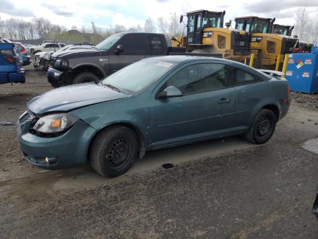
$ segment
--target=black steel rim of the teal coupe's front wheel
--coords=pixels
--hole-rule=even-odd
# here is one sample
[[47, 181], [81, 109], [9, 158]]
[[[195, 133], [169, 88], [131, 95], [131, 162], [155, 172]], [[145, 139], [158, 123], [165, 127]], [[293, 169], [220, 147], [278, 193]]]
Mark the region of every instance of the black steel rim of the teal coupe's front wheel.
[[106, 155], [106, 161], [110, 167], [120, 168], [127, 163], [131, 153], [131, 142], [127, 138], [119, 138], [112, 142]]

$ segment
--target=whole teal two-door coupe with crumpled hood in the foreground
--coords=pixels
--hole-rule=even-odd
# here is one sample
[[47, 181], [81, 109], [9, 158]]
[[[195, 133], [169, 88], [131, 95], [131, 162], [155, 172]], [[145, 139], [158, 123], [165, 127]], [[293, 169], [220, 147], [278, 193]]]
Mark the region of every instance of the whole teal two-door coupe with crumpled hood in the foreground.
[[217, 58], [153, 57], [32, 99], [17, 134], [38, 167], [90, 161], [115, 177], [149, 150], [236, 134], [265, 143], [290, 102], [287, 81], [275, 74]]

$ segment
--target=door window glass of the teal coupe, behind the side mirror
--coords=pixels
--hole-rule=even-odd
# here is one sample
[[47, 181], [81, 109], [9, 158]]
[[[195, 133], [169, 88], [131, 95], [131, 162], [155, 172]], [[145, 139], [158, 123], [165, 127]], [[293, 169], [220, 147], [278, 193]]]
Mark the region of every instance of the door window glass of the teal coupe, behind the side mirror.
[[178, 88], [183, 95], [208, 92], [228, 86], [228, 70], [224, 64], [201, 63], [187, 66], [175, 73], [166, 86]]

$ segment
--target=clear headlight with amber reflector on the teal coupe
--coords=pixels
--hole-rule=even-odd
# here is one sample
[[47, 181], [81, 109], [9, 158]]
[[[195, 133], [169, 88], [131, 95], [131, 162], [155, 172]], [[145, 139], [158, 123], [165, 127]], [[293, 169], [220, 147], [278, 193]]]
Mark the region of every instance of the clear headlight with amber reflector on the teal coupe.
[[40, 118], [33, 129], [42, 133], [57, 133], [70, 128], [79, 118], [68, 113], [48, 115]]

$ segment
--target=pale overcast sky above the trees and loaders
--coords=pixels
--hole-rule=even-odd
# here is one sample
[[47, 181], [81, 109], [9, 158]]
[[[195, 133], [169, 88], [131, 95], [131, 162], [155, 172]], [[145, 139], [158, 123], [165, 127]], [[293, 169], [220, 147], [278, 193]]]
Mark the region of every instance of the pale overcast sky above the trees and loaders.
[[131, 27], [138, 23], [143, 26], [149, 16], [154, 20], [161, 15], [168, 19], [169, 12], [180, 15], [206, 9], [226, 10], [225, 22], [239, 16], [257, 15], [276, 17], [278, 24], [293, 24], [300, 4], [306, 4], [312, 18], [317, 19], [318, 0], [0, 0], [0, 17], [29, 20], [42, 16], [68, 28], [87, 27], [91, 21], [101, 27], [114, 24]]

